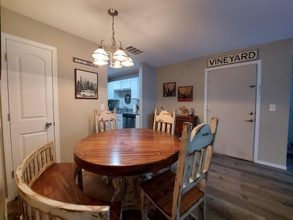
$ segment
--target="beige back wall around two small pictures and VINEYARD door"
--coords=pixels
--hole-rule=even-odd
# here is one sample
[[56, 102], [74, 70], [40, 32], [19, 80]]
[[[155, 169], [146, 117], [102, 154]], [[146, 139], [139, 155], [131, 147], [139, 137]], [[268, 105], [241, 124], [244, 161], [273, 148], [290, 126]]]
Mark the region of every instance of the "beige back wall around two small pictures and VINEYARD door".
[[[207, 60], [222, 55], [250, 49], [259, 50], [262, 61], [261, 118], [258, 159], [270, 164], [286, 165], [290, 86], [292, 68], [292, 39], [282, 40], [251, 48], [229, 51], [209, 57], [196, 58], [157, 68], [156, 106], [171, 111], [179, 106], [194, 108], [200, 121], [204, 119], [204, 77]], [[176, 97], [163, 97], [162, 85], [176, 82], [176, 87], [192, 85], [193, 102], [178, 102]], [[270, 112], [269, 104], [276, 104], [277, 111]], [[179, 110], [180, 112], [180, 110]]]

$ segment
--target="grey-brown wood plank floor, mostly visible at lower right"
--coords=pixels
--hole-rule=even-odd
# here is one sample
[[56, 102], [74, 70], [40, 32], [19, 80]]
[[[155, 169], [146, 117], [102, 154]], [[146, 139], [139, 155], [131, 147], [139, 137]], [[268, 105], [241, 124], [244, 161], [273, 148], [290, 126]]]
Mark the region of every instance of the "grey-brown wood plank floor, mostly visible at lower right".
[[[289, 169], [285, 171], [214, 154], [208, 177], [207, 219], [293, 219], [293, 159], [288, 161]], [[103, 193], [107, 188], [109, 194], [112, 192], [104, 182], [97, 182], [99, 185], [95, 185], [93, 191], [99, 187]], [[15, 203], [10, 204], [9, 210], [13, 206]], [[13, 213], [10, 216], [9, 219], [18, 219]], [[123, 220], [138, 219], [137, 211], [123, 214]], [[165, 218], [155, 213], [151, 219]]]

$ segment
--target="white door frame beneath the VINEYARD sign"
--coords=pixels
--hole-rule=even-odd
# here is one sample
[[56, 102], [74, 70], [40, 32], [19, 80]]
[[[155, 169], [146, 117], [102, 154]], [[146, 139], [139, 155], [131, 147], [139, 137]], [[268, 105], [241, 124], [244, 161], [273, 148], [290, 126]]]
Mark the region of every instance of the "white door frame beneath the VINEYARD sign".
[[[208, 73], [209, 71], [213, 70], [220, 70], [220, 69], [227, 69], [227, 68], [233, 68], [238, 66], [244, 66], [244, 65], [255, 65], [256, 64], [256, 96], [255, 96], [255, 128], [254, 128], [254, 146], [253, 146], [253, 162], [261, 163], [261, 161], [258, 160], [258, 152], [259, 152], [259, 127], [260, 127], [260, 104], [261, 104], [261, 60], [256, 61], [250, 61], [245, 63], [238, 63], [238, 64], [230, 64], [220, 67], [213, 67], [213, 68], [207, 68], [205, 69], [205, 88], [204, 88], [204, 122], [208, 123], [207, 121], [207, 105], [208, 105]], [[221, 119], [220, 119], [221, 123]]]

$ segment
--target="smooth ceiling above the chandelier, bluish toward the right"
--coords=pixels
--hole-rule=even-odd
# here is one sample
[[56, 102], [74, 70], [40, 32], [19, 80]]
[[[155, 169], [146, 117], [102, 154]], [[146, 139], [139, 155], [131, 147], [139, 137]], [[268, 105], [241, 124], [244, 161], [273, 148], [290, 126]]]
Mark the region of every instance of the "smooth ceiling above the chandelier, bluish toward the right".
[[[2, 0], [2, 7], [100, 43], [111, 41], [109, 8], [118, 10], [115, 38], [129, 54], [131, 68], [108, 76], [186, 61], [293, 37], [293, 1], [280, 0]], [[92, 51], [93, 52], [93, 51]]]

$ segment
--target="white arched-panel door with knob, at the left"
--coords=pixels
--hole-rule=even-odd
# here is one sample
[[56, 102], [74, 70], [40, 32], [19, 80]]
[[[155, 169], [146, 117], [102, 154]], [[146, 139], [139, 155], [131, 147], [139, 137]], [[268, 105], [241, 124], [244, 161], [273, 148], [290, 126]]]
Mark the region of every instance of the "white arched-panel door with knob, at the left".
[[[16, 170], [26, 155], [39, 146], [56, 140], [53, 92], [54, 56], [52, 50], [42, 47], [38, 43], [34, 45], [19, 39], [7, 38], [5, 47], [7, 51], [8, 126], [12, 169]], [[6, 164], [9, 163], [8, 158], [5, 159], [7, 159]], [[9, 184], [10, 175], [7, 174], [7, 177]], [[9, 190], [8, 192], [11, 193]]]

